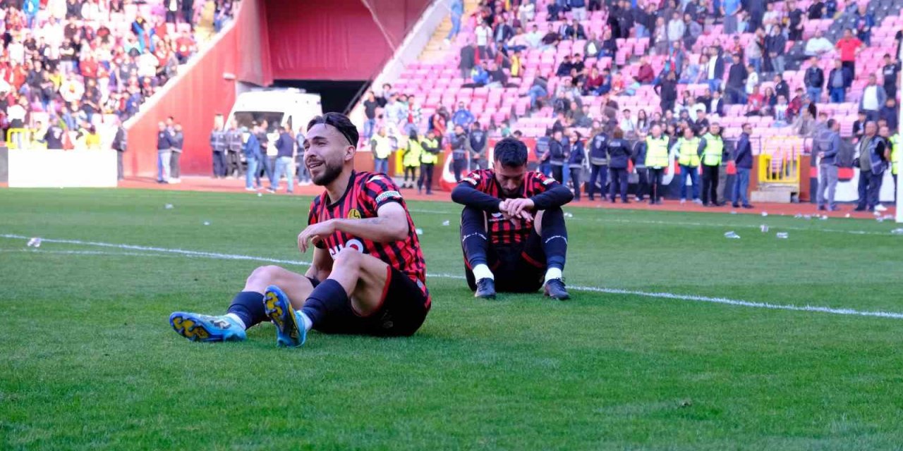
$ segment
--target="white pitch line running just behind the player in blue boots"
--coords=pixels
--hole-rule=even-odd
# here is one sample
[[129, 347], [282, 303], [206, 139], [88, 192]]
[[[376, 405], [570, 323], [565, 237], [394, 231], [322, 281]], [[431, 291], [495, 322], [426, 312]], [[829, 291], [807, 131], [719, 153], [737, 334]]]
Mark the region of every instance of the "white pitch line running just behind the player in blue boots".
[[[8, 239], [28, 239], [27, 236], [23, 235], [0, 235], [0, 238], [8, 238]], [[109, 247], [115, 249], [126, 249], [126, 250], [137, 250], [137, 251], [147, 251], [147, 252], [155, 252], [155, 253], [114, 253], [114, 252], [103, 252], [103, 251], [56, 251], [56, 250], [47, 250], [47, 249], [0, 249], [0, 252], [31, 252], [31, 253], [67, 253], [67, 254], [82, 254], [82, 255], [134, 255], [134, 256], [156, 256], [156, 257], [167, 257], [167, 256], [182, 256], [182, 257], [199, 257], [199, 258], [209, 258], [209, 259], [218, 259], [218, 260], [246, 260], [250, 262], [268, 262], [268, 263], [282, 263], [282, 264], [293, 264], [297, 266], [310, 266], [309, 262], [298, 262], [293, 260], [278, 260], [266, 257], [255, 257], [251, 255], [235, 255], [230, 253], [209, 253], [209, 252], [201, 252], [201, 251], [186, 251], [183, 249], [168, 249], [165, 247], [153, 247], [153, 246], [140, 246], [135, 244], [112, 244], [112, 243], [98, 243], [91, 241], [80, 241], [80, 240], [61, 240], [61, 239], [52, 239], [52, 238], [42, 238], [42, 243], [60, 243], [60, 244], [78, 244], [78, 245], [88, 245], [88, 246], [99, 246], [99, 247]], [[169, 255], [167, 255], [169, 253]], [[446, 273], [427, 273], [427, 277], [437, 277], [442, 279], [464, 279], [464, 276], [459, 274], [446, 274]], [[820, 307], [820, 306], [796, 306], [796, 305], [787, 305], [787, 304], [771, 304], [768, 302], [754, 302], [749, 300], [742, 299], [727, 299], [727, 298], [712, 298], [707, 296], [694, 296], [689, 294], [677, 294], [677, 293], [666, 293], [666, 292], [651, 292], [651, 291], [639, 291], [639, 290], [622, 290], [617, 288], [603, 288], [603, 287], [586, 287], [580, 285], [573, 285], [568, 287], [570, 290], [575, 291], [590, 291], [597, 293], [608, 293], [608, 294], [628, 294], [633, 296], [643, 296], [646, 298], [656, 298], [656, 299], [676, 299], [676, 300], [690, 300], [694, 302], [711, 302], [715, 304], [727, 304], [731, 306], [740, 306], [740, 307], [751, 307], [751, 308], [771, 308], [778, 310], [793, 310], [793, 311], [806, 311], [806, 312], [820, 312], [820, 313], [830, 313], [833, 315], [853, 315], [860, 317], [877, 317], [877, 318], [894, 318], [894, 319], [903, 319], [903, 313], [898, 312], [886, 312], [886, 311], [862, 311], [855, 310], [853, 308], [831, 308], [831, 307]]]

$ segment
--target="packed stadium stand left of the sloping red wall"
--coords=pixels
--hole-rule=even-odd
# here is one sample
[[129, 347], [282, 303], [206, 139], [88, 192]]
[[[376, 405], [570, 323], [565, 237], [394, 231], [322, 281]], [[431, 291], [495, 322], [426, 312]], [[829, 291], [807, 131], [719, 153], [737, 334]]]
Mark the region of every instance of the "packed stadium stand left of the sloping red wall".
[[[112, 134], [175, 77], [230, 20], [232, 0], [5, 2], [0, 30], [0, 125], [41, 140], [49, 124], [65, 146], [89, 130]], [[197, 25], [197, 26], [196, 26]], [[22, 106], [18, 108], [16, 106]], [[46, 145], [46, 143], [44, 143]]]

